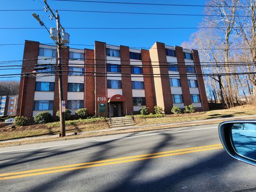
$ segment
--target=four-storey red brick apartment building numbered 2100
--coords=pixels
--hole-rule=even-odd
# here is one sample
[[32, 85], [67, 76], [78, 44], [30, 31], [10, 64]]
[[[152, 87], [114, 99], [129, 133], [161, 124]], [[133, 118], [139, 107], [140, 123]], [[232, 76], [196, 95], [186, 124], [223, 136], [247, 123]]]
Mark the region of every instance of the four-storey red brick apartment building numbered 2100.
[[[58, 76], [55, 75], [56, 47], [26, 41], [20, 81], [18, 115], [33, 117], [40, 111], [53, 116], [59, 109]], [[198, 52], [156, 42], [149, 50], [131, 49], [95, 42], [91, 49], [62, 49], [63, 98], [72, 114], [87, 108], [91, 115], [136, 114], [142, 106], [184, 108], [193, 104], [208, 110]], [[51, 64], [51, 65], [49, 65]], [[42, 73], [43, 72], [43, 73]], [[154, 75], [153, 75], [154, 74]], [[191, 76], [193, 75], [193, 76]], [[99, 112], [105, 104], [106, 113]]]

